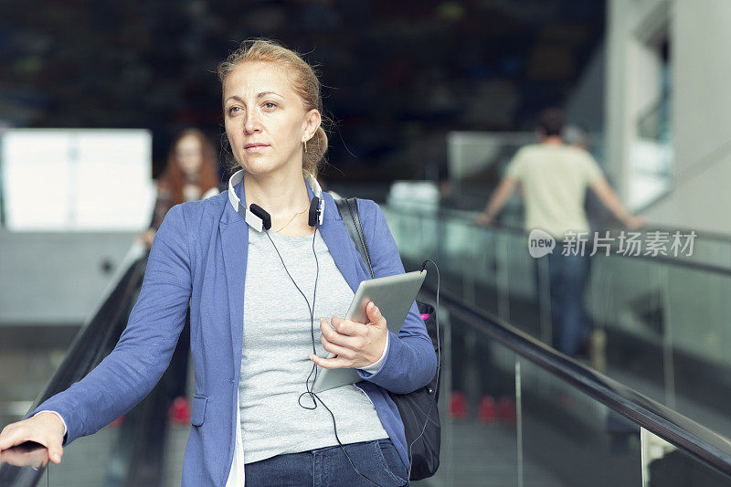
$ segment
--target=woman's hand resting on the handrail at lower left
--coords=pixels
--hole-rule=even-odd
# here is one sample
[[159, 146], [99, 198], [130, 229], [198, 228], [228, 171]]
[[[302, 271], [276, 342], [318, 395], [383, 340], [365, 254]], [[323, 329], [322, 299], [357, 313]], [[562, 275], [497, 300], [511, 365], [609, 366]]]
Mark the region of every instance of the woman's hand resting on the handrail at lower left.
[[45, 446], [50, 461], [58, 464], [63, 456], [63, 430], [61, 418], [48, 412], [10, 423], [0, 431], [0, 453], [26, 441], [35, 441]]

